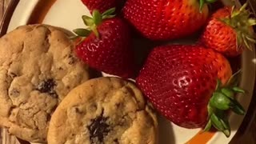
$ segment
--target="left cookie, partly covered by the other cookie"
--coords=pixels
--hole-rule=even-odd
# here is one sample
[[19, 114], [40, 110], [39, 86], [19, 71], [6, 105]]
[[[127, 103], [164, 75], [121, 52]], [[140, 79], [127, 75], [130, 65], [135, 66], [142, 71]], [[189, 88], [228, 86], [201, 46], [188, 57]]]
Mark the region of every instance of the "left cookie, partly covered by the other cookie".
[[46, 25], [20, 26], [0, 39], [0, 126], [30, 142], [46, 142], [51, 114], [89, 79], [66, 34]]

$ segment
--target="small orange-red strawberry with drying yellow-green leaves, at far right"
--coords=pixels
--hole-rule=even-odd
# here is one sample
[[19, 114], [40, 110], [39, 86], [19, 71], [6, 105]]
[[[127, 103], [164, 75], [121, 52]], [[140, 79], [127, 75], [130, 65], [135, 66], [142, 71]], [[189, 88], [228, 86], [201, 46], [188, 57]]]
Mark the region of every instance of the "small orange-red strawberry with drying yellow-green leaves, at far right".
[[256, 37], [250, 27], [255, 24], [256, 19], [250, 18], [246, 5], [240, 10], [224, 7], [211, 16], [200, 42], [228, 57], [235, 57], [245, 48], [253, 49]]

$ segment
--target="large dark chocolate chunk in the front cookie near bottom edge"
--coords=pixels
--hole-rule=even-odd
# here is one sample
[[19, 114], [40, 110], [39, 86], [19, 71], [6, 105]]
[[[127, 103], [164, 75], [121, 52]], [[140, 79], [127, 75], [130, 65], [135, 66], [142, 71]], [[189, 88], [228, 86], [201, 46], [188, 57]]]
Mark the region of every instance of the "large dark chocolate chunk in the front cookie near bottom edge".
[[110, 126], [106, 123], [107, 119], [103, 116], [102, 110], [102, 114], [93, 119], [90, 126], [87, 126], [90, 131], [91, 142], [97, 142], [97, 140], [103, 142], [104, 136], [110, 132]]

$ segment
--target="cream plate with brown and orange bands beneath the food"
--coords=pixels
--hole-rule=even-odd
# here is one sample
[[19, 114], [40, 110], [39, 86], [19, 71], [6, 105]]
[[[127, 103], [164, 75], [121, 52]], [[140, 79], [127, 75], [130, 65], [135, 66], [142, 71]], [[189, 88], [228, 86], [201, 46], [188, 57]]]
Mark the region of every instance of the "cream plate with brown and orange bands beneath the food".
[[[225, 3], [230, 3], [225, 1]], [[82, 28], [82, 15], [90, 15], [81, 0], [20, 0], [18, 6], [14, 10], [14, 14], [10, 20], [8, 31], [14, 30], [17, 26], [44, 23], [53, 26], [59, 26], [66, 30], [74, 30]], [[254, 90], [255, 79], [255, 51], [245, 51], [242, 54], [242, 82], [240, 86], [248, 93], [246, 96], [238, 95], [239, 102], [242, 103], [247, 110], [250, 106], [250, 100]], [[168, 122], [165, 118], [159, 116], [160, 125], [160, 144], [180, 144], [180, 143], [228, 143], [236, 134], [244, 117], [230, 114], [231, 135], [226, 138], [220, 132], [202, 133], [201, 129], [187, 130], [175, 126]]]

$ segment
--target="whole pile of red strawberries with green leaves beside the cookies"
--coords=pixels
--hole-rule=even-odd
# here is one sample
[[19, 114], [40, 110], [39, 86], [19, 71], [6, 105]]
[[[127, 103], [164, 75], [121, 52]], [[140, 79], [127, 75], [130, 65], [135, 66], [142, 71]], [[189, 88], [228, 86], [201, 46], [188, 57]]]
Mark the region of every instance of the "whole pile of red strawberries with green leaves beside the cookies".
[[[240, 71], [232, 75], [226, 58], [256, 43], [246, 5], [221, 7], [214, 0], [82, 0], [92, 17], [76, 29], [76, 54], [96, 70], [134, 78], [156, 110], [185, 128], [214, 126], [227, 137], [227, 111], [245, 114], [235, 100]], [[210, 4], [212, 3], [212, 4]], [[117, 7], [117, 9], [113, 8]], [[115, 10], [118, 12], [115, 14]], [[156, 43], [200, 34], [193, 45], [161, 44], [150, 50], [143, 66], [136, 63], [134, 37]], [[145, 50], [144, 50], [145, 51]]]

